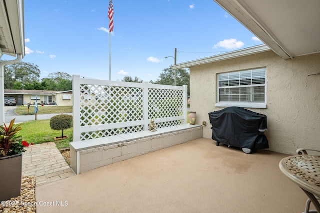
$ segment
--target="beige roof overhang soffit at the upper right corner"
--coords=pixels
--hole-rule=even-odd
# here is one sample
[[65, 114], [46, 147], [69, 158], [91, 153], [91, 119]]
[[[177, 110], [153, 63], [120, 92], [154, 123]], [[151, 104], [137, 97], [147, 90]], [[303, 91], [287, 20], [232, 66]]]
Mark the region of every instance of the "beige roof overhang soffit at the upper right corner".
[[320, 51], [320, 0], [214, 0], [283, 59]]

